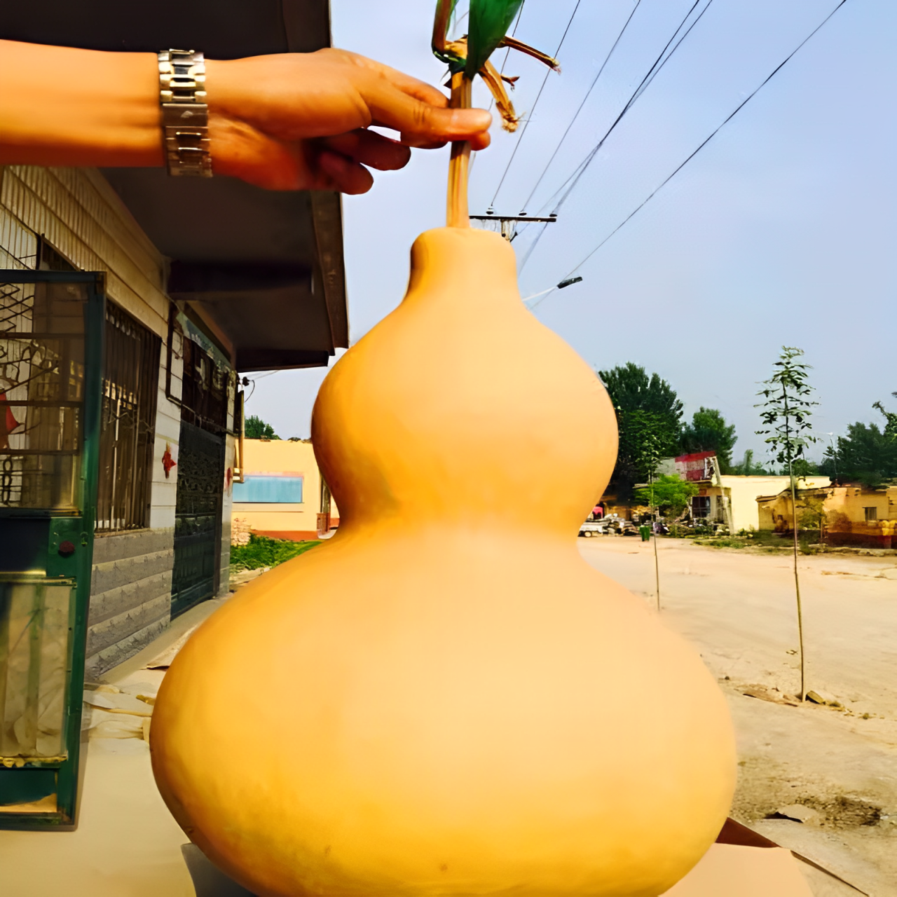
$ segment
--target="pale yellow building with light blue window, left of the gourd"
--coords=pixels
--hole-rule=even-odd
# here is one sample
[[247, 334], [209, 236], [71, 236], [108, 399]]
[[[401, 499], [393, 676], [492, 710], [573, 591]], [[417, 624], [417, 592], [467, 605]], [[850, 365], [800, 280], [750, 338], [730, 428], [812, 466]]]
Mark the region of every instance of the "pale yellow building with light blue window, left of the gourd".
[[243, 482], [233, 484], [231, 532], [301, 542], [339, 526], [310, 440], [243, 440], [242, 465]]

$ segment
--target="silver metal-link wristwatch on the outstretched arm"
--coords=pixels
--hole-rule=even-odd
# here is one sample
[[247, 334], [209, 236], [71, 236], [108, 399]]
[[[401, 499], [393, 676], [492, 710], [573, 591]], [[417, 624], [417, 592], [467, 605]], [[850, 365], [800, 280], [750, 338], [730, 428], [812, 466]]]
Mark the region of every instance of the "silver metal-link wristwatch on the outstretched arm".
[[159, 101], [165, 161], [170, 175], [212, 177], [205, 59], [194, 50], [159, 54]]

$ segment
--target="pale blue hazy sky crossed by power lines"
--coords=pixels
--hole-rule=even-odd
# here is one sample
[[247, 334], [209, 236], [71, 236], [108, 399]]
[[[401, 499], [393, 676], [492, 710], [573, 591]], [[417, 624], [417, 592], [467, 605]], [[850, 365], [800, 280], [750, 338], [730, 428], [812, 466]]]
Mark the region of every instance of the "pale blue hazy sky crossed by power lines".
[[[707, 0], [700, 0], [695, 14]], [[526, 297], [578, 266], [822, 22], [838, 0], [710, 0], [675, 55], [608, 137], [520, 272]], [[640, 0], [614, 54], [527, 209], [597, 144], [692, 7]], [[505, 74], [528, 119], [492, 127], [476, 154], [472, 212], [516, 214], [588, 91], [635, 0], [525, 0], [518, 39], [558, 57], [561, 74], [517, 53]], [[332, 0], [334, 45], [431, 83], [433, 0]], [[464, 0], [459, 4], [463, 10]], [[462, 13], [463, 14], [463, 13]], [[460, 23], [464, 30], [464, 23]], [[843, 434], [897, 410], [897, 4], [847, 0], [684, 169], [534, 313], [596, 370], [657, 371], [690, 418], [701, 405], [736, 424], [735, 455], [762, 453], [754, 404], [782, 345], [805, 350], [819, 402], [815, 431]], [[501, 65], [504, 51], [494, 57]], [[475, 89], [475, 105], [489, 96]], [[530, 116], [530, 112], [532, 115]], [[520, 142], [508, 174], [502, 173]], [[444, 224], [448, 148], [417, 151], [344, 197], [351, 342], [396, 307], [408, 250]], [[493, 202], [494, 198], [494, 202]], [[545, 207], [551, 211], [553, 205]], [[543, 212], [544, 213], [544, 212]], [[535, 229], [513, 244], [518, 261]], [[338, 356], [337, 356], [338, 357]], [[283, 438], [309, 435], [324, 369], [257, 377], [247, 414]], [[879, 421], [881, 422], [881, 421]], [[815, 449], [820, 457], [823, 446]], [[811, 455], [813, 453], [811, 452]]]

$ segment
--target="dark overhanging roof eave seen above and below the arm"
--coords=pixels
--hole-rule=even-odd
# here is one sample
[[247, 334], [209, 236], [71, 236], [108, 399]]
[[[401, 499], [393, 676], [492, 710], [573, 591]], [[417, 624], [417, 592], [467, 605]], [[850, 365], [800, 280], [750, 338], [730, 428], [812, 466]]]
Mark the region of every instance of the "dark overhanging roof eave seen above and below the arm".
[[[0, 37], [232, 59], [329, 46], [330, 8], [327, 0], [28, 0], [0, 4]], [[339, 194], [161, 169], [103, 174], [170, 258], [172, 300], [237, 370], [326, 365], [348, 345]]]

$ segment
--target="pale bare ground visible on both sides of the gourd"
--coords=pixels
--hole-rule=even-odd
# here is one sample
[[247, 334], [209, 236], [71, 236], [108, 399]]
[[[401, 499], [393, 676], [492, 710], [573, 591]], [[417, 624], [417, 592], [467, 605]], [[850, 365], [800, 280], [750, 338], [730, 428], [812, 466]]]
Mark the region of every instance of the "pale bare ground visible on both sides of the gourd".
[[[650, 544], [606, 536], [579, 546], [597, 569], [654, 601]], [[885, 578], [897, 569], [893, 558], [801, 560], [808, 684], [847, 708], [836, 710], [777, 702], [798, 685], [787, 557], [676, 540], [658, 548], [666, 623], [696, 644], [730, 701], [741, 754], [733, 814], [860, 892], [897, 895], [897, 582]], [[184, 614], [104, 679], [123, 692], [152, 694], [164, 672], [145, 664], [219, 605]], [[772, 700], [745, 696], [751, 685]], [[84, 747], [78, 830], [0, 832], [0, 894], [194, 897], [180, 854], [187, 839], [155, 788], [146, 742], [93, 737]], [[795, 804], [812, 818], [765, 819]], [[801, 873], [814, 897], [858, 893], [806, 864]]]

